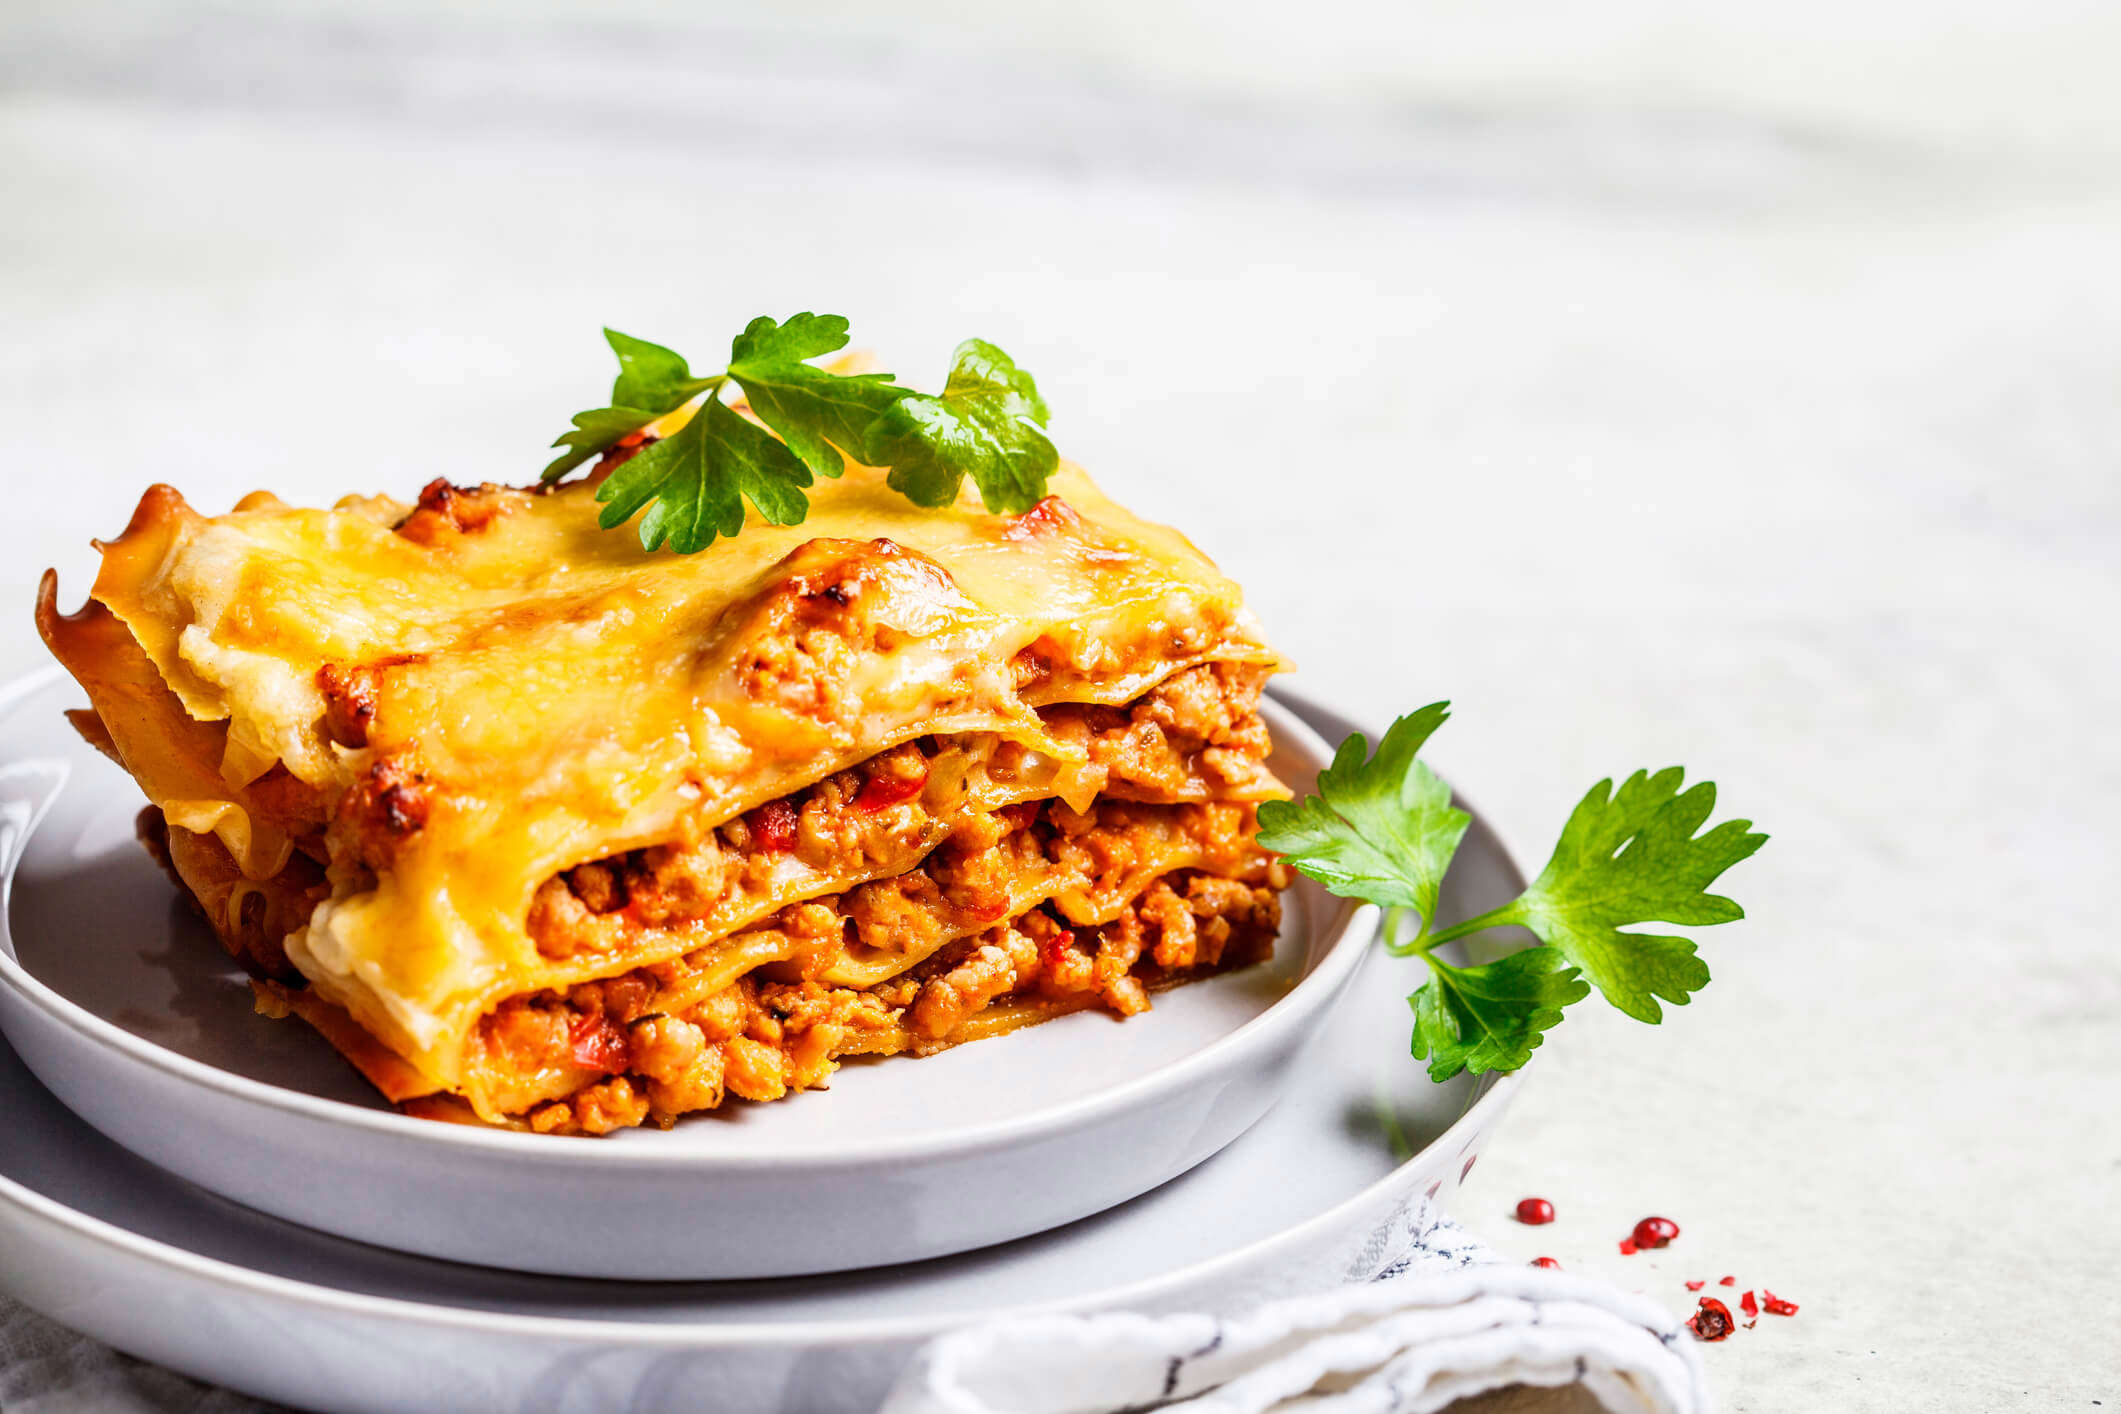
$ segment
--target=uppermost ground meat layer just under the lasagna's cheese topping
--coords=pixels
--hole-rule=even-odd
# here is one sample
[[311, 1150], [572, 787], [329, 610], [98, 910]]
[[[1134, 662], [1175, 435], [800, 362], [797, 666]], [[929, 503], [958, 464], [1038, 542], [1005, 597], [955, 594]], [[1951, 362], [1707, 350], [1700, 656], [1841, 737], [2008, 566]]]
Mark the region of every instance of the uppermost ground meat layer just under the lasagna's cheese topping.
[[[1277, 793], [1258, 714], [1266, 672], [1203, 664], [1173, 674], [1124, 708], [1046, 708], [1048, 729], [1082, 746], [1103, 772], [1103, 795], [1126, 801], [1262, 799]], [[698, 839], [660, 844], [577, 865], [547, 880], [528, 916], [543, 956], [617, 952], [641, 931], [704, 922], [772, 890], [789, 856], [817, 876], [851, 878], [918, 848], [933, 827], [923, 791], [942, 738], [921, 738], [768, 801]], [[1007, 774], [1022, 748], [993, 757]], [[993, 820], [965, 820], [952, 844], [976, 842]], [[993, 844], [993, 839], [988, 839]], [[980, 846], [984, 848], [984, 846]], [[969, 884], [967, 884], [969, 886]]]

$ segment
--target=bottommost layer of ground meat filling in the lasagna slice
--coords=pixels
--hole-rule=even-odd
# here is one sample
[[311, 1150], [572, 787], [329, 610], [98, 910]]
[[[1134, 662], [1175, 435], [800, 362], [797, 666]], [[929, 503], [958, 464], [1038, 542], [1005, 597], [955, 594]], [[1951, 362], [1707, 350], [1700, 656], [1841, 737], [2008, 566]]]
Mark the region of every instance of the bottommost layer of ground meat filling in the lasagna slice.
[[1173, 871], [1111, 922], [1071, 926], [1037, 907], [867, 990], [766, 969], [672, 1013], [660, 1009], [666, 977], [641, 969], [564, 996], [518, 998], [490, 1018], [488, 1043], [579, 1077], [564, 1098], [528, 1109], [532, 1130], [670, 1124], [728, 1096], [778, 1100], [821, 1085], [840, 1056], [925, 1056], [1094, 1005], [1143, 1011], [1152, 990], [1264, 958], [1281, 884], [1279, 865], [1262, 865], [1251, 882]]

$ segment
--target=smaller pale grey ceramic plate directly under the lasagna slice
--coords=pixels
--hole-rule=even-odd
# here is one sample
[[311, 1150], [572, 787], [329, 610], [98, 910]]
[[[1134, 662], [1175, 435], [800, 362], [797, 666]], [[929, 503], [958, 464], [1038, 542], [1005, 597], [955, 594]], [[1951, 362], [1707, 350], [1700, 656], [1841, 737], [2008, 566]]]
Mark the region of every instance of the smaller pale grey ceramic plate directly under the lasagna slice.
[[[1046, 1232], [1243, 1134], [1347, 986], [1374, 909], [1307, 880], [1275, 960], [1130, 1022], [1077, 1013], [829, 1092], [568, 1141], [392, 1113], [250, 990], [132, 837], [138, 786], [47, 676], [0, 697], [0, 1030], [89, 1124], [227, 1198], [403, 1251], [564, 1276], [870, 1268]], [[1330, 759], [1266, 704], [1275, 770]], [[585, 1196], [594, 1194], [594, 1202]], [[585, 1217], [590, 1215], [590, 1217]]]

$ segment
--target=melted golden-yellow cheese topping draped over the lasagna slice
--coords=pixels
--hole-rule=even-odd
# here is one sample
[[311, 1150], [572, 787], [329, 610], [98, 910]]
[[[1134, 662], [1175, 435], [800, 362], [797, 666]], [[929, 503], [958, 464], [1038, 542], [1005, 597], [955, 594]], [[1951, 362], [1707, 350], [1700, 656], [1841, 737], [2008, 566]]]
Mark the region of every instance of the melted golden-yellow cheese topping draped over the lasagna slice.
[[[255, 878], [286, 859], [286, 831], [252, 829], [252, 801], [308, 789], [333, 806], [384, 767], [418, 793], [422, 816], [384, 859], [339, 810], [333, 897], [288, 958], [454, 1083], [477, 1015], [547, 986], [524, 916], [556, 871], [711, 829], [914, 736], [995, 731], [1065, 761], [1033, 706], [1126, 702], [1196, 661], [1275, 661], [1237, 585], [1181, 534], [1073, 466], [1052, 492], [1056, 515], [988, 515], [969, 488], [935, 511], [851, 466], [812, 490], [802, 526], [753, 515], [734, 541], [672, 555], [598, 528], [590, 483], [498, 492], [501, 513], [437, 536], [399, 532], [409, 507], [386, 498], [318, 511], [257, 494], [201, 517], [155, 488], [104, 547], [93, 598], [168, 689], [174, 721], [146, 736], [197, 757], [199, 727], [225, 723], [208, 738], [221, 759], [144, 772], [110, 731], [148, 795], [185, 814], [172, 820], [212, 829]], [[834, 555], [870, 577], [857, 642], [804, 638], [783, 613]], [[70, 664], [76, 621], [47, 623]], [[1041, 672], [1018, 691], [1024, 649]], [[354, 744], [327, 725], [327, 668], [371, 685]], [[159, 799], [157, 776], [180, 789]]]

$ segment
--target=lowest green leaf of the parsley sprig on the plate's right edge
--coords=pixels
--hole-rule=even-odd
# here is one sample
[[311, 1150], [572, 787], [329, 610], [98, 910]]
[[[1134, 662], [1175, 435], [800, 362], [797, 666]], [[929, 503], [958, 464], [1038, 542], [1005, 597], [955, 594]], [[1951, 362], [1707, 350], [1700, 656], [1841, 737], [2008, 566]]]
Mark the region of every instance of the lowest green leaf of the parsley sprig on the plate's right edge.
[[1561, 1009], [1591, 994], [1555, 948], [1525, 948], [1480, 967], [1421, 956], [1432, 977], [1406, 998], [1415, 1009], [1413, 1051], [1440, 1081], [1459, 1071], [1517, 1071]]

